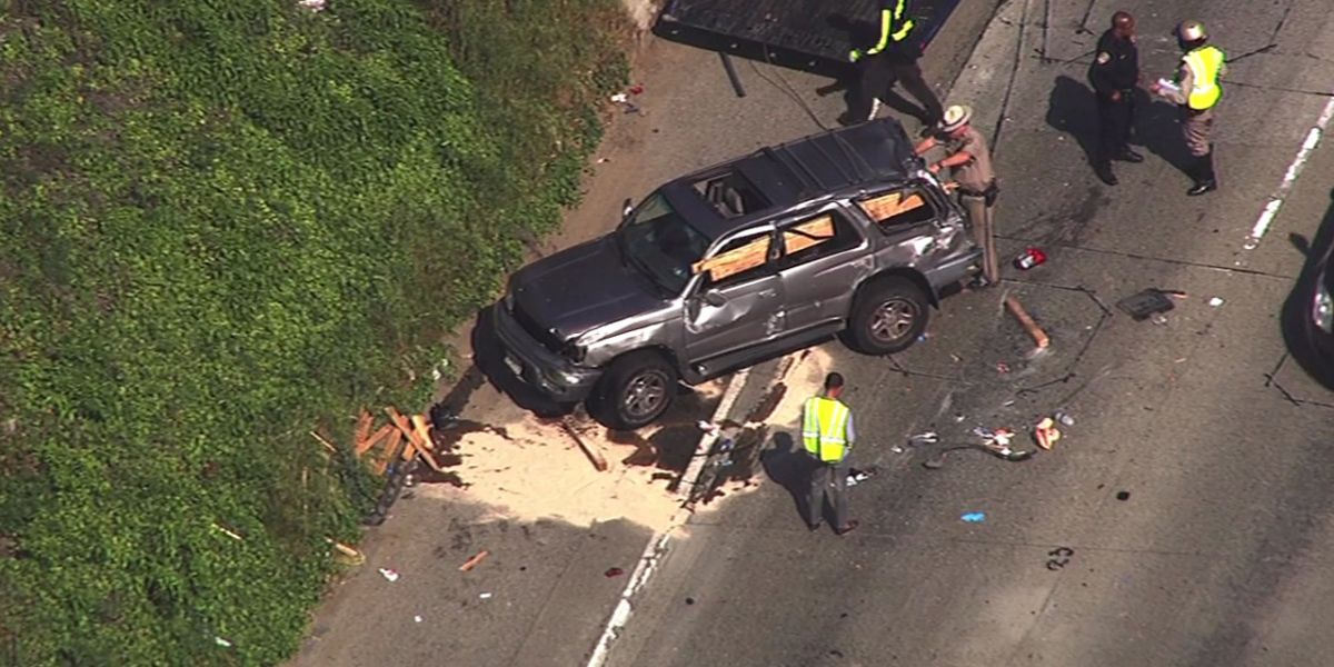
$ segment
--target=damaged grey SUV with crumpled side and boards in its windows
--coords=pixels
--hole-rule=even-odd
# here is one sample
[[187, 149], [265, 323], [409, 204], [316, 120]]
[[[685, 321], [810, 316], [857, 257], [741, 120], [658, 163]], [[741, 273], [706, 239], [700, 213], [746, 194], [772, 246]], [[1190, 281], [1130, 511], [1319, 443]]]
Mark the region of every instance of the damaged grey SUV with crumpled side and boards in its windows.
[[882, 119], [672, 180], [616, 231], [510, 277], [504, 363], [558, 403], [638, 428], [698, 384], [839, 334], [902, 351], [980, 251]]

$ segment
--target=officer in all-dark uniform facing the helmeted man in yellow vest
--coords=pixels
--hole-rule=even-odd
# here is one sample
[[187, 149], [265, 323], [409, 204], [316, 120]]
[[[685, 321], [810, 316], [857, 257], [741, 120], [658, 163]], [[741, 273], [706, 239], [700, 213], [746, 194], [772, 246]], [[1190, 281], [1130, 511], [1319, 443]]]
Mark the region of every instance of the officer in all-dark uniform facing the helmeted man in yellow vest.
[[1111, 28], [1098, 39], [1098, 55], [1089, 67], [1089, 83], [1098, 97], [1098, 155], [1093, 168], [1103, 183], [1115, 185], [1118, 181], [1111, 160], [1145, 161], [1145, 156], [1130, 148], [1139, 49], [1135, 47], [1135, 17], [1129, 12], [1111, 15]]

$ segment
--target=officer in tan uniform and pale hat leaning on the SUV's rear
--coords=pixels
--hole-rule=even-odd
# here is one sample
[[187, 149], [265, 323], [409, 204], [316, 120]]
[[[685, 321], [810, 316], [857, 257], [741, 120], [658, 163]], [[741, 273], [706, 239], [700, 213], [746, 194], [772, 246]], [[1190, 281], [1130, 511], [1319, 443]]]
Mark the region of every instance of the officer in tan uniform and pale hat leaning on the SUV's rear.
[[995, 227], [991, 217], [1000, 188], [996, 185], [996, 175], [991, 169], [987, 139], [970, 124], [971, 120], [972, 108], [966, 104], [955, 104], [944, 109], [944, 120], [938, 125], [935, 135], [926, 137], [916, 145], [916, 153], [926, 155], [927, 151], [938, 145], [944, 147], [946, 157], [932, 163], [930, 169], [931, 173], [939, 173], [944, 167], [954, 169], [954, 181], [959, 184], [959, 203], [968, 212], [972, 239], [982, 248], [982, 276], [974, 283], [974, 287], [986, 287], [1000, 280]]

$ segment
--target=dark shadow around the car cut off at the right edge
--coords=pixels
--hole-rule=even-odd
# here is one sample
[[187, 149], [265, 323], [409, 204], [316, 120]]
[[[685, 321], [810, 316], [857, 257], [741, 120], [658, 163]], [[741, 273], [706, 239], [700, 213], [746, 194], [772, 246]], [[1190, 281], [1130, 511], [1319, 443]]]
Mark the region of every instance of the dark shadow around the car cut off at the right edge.
[[[1334, 191], [1330, 191], [1330, 205], [1325, 209], [1325, 217], [1315, 232], [1315, 237], [1306, 239], [1301, 235], [1290, 235], [1289, 240], [1298, 251], [1306, 255], [1302, 272], [1298, 275], [1293, 291], [1283, 301], [1279, 315], [1283, 343], [1297, 366], [1306, 375], [1334, 391], [1334, 358], [1329, 352], [1322, 354], [1313, 340], [1310, 340], [1311, 299], [1315, 292], [1315, 283], [1319, 279], [1319, 269], [1334, 253]], [[1325, 268], [1330, 271], [1330, 267]]]

